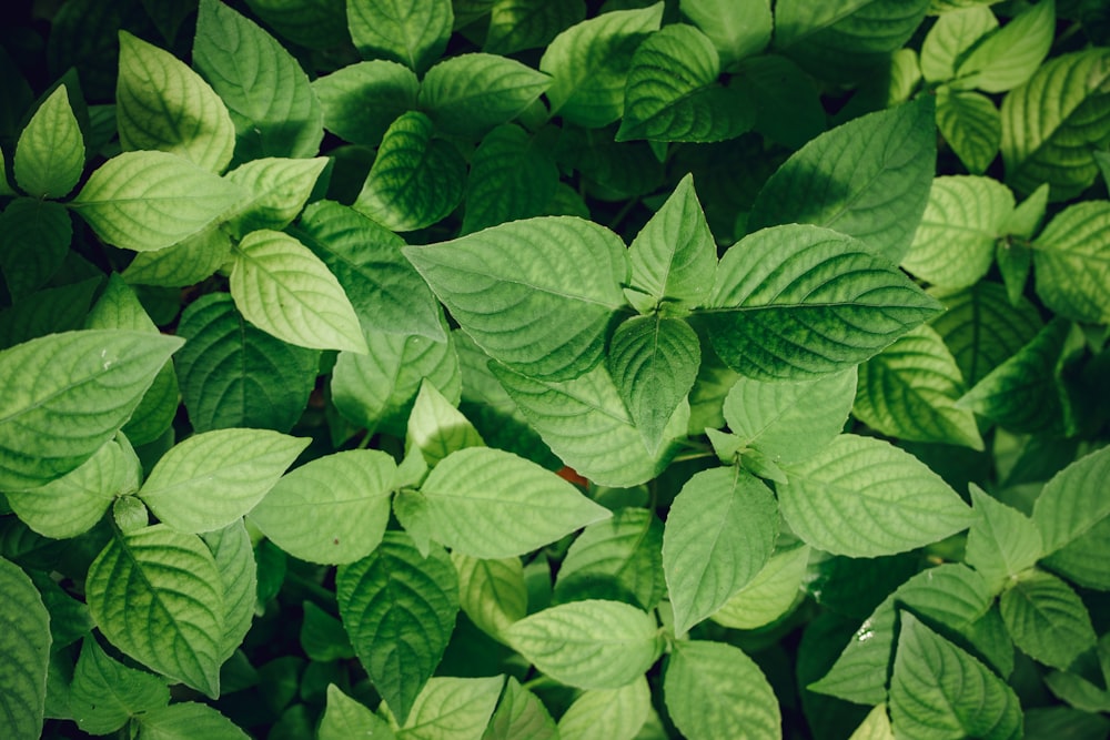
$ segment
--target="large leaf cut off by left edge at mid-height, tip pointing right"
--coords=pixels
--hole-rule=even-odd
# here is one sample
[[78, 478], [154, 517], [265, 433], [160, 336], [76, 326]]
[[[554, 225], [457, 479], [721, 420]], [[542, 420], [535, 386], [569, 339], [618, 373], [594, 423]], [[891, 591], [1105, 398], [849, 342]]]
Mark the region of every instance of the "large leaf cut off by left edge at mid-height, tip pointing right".
[[[0, 489], [41, 486], [115, 436], [178, 337], [120, 330], [64, 332], [0, 352]], [[51, 368], [52, 372], [47, 372]]]

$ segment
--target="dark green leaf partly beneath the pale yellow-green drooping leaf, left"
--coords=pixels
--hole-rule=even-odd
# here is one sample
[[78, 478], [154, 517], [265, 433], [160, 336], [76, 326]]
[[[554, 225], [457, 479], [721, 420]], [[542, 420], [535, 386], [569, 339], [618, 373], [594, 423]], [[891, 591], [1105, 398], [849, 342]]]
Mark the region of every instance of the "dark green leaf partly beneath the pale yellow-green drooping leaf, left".
[[226, 293], [189, 304], [178, 335], [188, 339], [174, 362], [196, 432], [289, 432], [300, 418], [315, 385], [317, 352], [285, 344], [246, 323]]

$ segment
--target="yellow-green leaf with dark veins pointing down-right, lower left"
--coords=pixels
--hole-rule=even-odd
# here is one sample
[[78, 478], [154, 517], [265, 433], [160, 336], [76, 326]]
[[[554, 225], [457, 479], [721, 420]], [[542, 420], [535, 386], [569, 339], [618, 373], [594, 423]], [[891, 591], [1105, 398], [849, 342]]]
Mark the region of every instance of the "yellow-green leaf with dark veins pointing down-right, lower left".
[[89, 566], [85, 591], [112, 645], [174, 682], [220, 695], [223, 581], [199, 537], [165, 525], [117, 535]]

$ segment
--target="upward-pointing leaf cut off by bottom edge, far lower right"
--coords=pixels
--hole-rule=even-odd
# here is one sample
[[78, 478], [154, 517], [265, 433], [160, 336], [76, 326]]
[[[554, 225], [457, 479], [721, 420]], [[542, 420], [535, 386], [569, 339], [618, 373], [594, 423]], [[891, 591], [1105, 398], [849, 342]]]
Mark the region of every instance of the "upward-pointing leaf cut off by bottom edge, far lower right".
[[1021, 737], [1013, 690], [907, 611], [890, 681], [890, 719], [896, 737]]

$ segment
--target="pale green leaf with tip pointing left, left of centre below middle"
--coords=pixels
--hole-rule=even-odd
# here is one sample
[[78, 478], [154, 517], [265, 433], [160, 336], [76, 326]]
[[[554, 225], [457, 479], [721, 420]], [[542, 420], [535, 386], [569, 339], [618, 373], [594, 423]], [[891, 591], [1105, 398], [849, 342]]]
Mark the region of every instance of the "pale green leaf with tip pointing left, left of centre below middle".
[[382, 539], [395, 472], [393, 458], [377, 449], [319, 457], [279, 480], [251, 521], [302, 560], [353, 562]]

